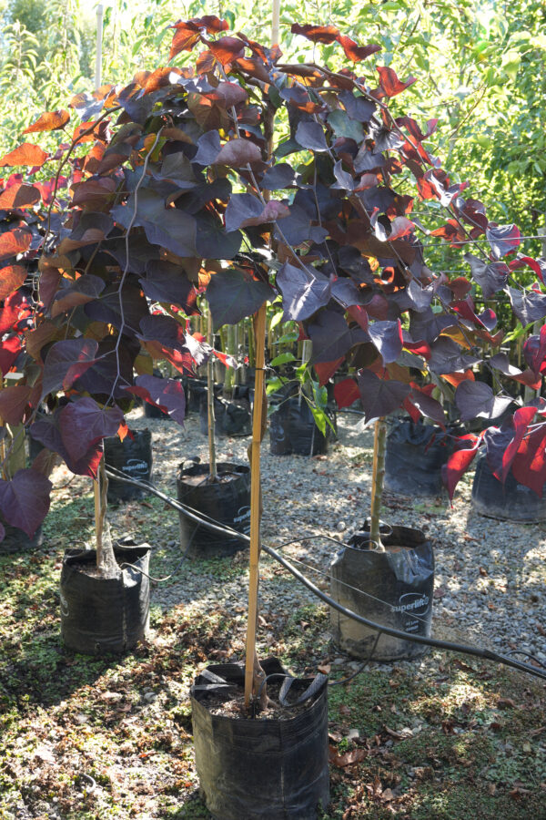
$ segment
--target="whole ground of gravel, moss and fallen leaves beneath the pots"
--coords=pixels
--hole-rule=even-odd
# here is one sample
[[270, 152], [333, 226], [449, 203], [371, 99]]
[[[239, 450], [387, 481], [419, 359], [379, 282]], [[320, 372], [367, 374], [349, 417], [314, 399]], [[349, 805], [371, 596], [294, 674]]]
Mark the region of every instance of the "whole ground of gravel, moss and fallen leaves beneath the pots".
[[[262, 459], [263, 542], [326, 591], [339, 544], [369, 515], [371, 434], [339, 417], [328, 456]], [[152, 431], [152, 478], [177, 497], [177, 466], [207, 438], [130, 414]], [[249, 438], [219, 438], [218, 461], [248, 464]], [[248, 550], [183, 558], [178, 513], [148, 495], [111, 506], [113, 538], [152, 545], [151, 630], [124, 657], [87, 657], [59, 639], [64, 550], [90, 543], [89, 479], [59, 467], [44, 543], [0, 556], [0, 817], [6, 820], [208, 818], [198, 795], [189, 687], [208, 663], [239, 661], [246, 638]], [[433, 634], [546, 663], [546, 525], [482, 518], [471, 476], [447, 498], [386, 494], [382, 517], [418, 527], [436, 555]], [[284, 546], [283, 546], [284, 545]], [[389, 602], [385, 603], [389, 607]], [[330, 640], [329, 611], [262, 557], [258, 653], [298, 677], [335, 681], [359, 662]], [[526, 655], [515, 655], [525, 660]], [[370, 663], [329, 689], [331, 820], [537, 820], [546, 817], [543, 682], [467, 655]]]

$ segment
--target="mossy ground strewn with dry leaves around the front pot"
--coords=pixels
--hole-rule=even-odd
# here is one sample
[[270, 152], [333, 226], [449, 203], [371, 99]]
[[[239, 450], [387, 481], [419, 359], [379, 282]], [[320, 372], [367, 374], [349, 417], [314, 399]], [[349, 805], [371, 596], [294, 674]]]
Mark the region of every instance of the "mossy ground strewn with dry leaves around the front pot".
[[[146, 644], [121, 658], [67, 651], [59, 638], [61, 559], [91, 533], [88, 484], [78, 479], [56, 492], [44, 545], [34, 554], [0, 558], [0, 817], [207, 818], [187, 693], [207, 662], [241, 657], [243, 608], [199, 610], [159, 585]], [[149, 497], [114, 517], [142, 539], [171, 544], [157, 549], [152, 564], [159, 575], [173, 573], [171, 589], [197, 576], [208, 592], [239, 580], [245, 588], [245, 560], [180, 563], [176, 517], [163, 502]], [[279, 591], [297, 594], [293, 579], [269, 562], [265, 574]], [[293, 671], [320, 666], [333, 680], [351, 671], [329, 641], [322, 604], [302, 598], [289, 610], [265, 612], [259, 632], [260, 651]], [[323, 816], [546, 818], [545, 707], [541, 682], [440, 652], [334, 686], [332, 800]]]

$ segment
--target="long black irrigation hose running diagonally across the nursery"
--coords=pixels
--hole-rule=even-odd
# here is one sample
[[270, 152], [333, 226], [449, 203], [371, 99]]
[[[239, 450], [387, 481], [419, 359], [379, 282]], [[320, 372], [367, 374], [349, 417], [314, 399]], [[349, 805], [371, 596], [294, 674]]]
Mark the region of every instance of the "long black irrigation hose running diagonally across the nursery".
[[[197, 521], [204, 527], [212, 529], [216, 532], [227, 533], [228, 535], [234, 538], [238, 538], [240, 541], [244, 541], [246, 544], [250, 542], [250, 538], [248, 537], [248, 535], [245, 535], [242, 532], [238, 532], [236, 529], [224, 527], [220, 524], [213, 523], [212, 518], [204, 517], [192, 507], [187, 507], [185, 504], [180, 504], [179, 501], [175, 501], [173, 498], [168, 497], [165, 493], [162, 493], [161, 490], [158, 490], [157, 487], [154, 487], [154, 485], [152, 485], [149, 482], [138, 481], [135, 478], [125, 477], [125, 475], [119, 474], [117, 470], [116, 472], [112, 472], [111, 467], [106, 467], [106, 475], [108, 477], [116, 478], [119, 481], [125, 481], [127, 484], [134, 484], [136, 485], [136, 487], [146, 487], [151, 493], [161, 498], [170, 507], [174, 507], [179, 512], [183, 512], [185, 515], [187, 515], [187, 518], [191, 518], [194, 521]], [[341, 612], [341, 614], [345, 615], [347, 618], [350, 618], [351, 620], [356, 620], [358, 623], [362, 623], [364, 626], [367, 626], [372, 630], [384, 632], [386, 635], [390, 635], [392, 638], [401, 638], [403, 641], [413, 641], [414, 643], [421, 643], [426, 644], [427, 646], [432, 646], [435, 649], [450, 652], [461, 652], [462, 654], [471, 655], [475, 658], [484, 658], [487, 661], [502, 663], [505, 666], [510, 666], [512, 669], [525, 671], [531, 675], [534, 675], [537, 678], [546, 680], [546, 670], [542, 670], [535, 666], [531, 666], [530, 663], [523, 663], [522, 661], [513, 661], [510, 657], [507, 657], [506, 655], [501, 655], [498, 652], [494, 652], [488, 649], [481, 649], [477, 646], [469, 646], [464, 643], [455, 643], [453, 641], [440, 641], [440, 639], [438, 638], [425, 638], [423, 635], [415, 635], [410, 632], [395, 630], [392, 627], [386, 626], [384, 624], [376, 623], [376, 621], [374, 620], [364, 618], [362, 615], [358, 615], [356, 612], [353, 612], [352, 610], [348, 610], [346, 607], [343, 607], [341, 604], [338, 603], [337, 600], [330, 598], [329, 595], [322, 591], [322, 589], [316, 587], [312, 581], [306, 578], [306, 576], [303, 575], [303, 573], [299, 572], [298, 569], [293, 567], [287, 559], [283, 558], [283, 556], [281, 556], [276, 549], [273, 549], [272, 547], [267, 547], [263, 543], [261, 545], [261, 548], [271, 558], [278, 561], [278, 563], [281, 564], [285, 569], [288, 569], [288, 572], [290, 572], [295, 579], [298, 579], [298, 581], [302, 583], [304, 587], [307, 587], [307, 589], [309, 589], [309, 591], [312, 592], [313, 595], [316, 595], [317, 598], [324, 601], [324, 603], [327, 603], [334, 610], [338, 610], [338, 612]]]

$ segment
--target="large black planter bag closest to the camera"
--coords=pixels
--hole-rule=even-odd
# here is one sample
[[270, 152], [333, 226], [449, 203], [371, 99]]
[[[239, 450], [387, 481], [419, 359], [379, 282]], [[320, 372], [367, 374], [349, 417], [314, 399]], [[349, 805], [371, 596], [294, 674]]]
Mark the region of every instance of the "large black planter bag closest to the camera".
[[[262, 667], [278, 681], [286, 674], [276, 658]], [[329, 803], [326, 678], [308, 708], [298, 707], [288, 719], [238, 720], [209, 712], [218, 693], [225, 701], [242, 698], [244, 681], [242, 664], [218, 664], [191, 688], [197, 775], [208, 811], [217, 820], [315, 820], [319, 805]], [[311, 682], [297, 680], [290, 692], [296, 697]]]

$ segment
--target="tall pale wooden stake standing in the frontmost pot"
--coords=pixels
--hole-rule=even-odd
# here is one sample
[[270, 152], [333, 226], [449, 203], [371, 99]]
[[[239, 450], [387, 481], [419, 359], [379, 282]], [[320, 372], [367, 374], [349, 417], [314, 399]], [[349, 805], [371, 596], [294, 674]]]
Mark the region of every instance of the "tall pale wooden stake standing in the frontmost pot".
[[248, 580], [247, 660], [245, 665], [245, 705], [252, 695], [256, 660], [256, 626], [258, 620], [258, 561], [260, 523], [260, 445], [264, 410], [264, 364], [266, 349], [266, 302], [256, 315], [256, 377], [254, 381], [254, 413], [252, 416], [252, 452], [250, 458], [250, 564]]

